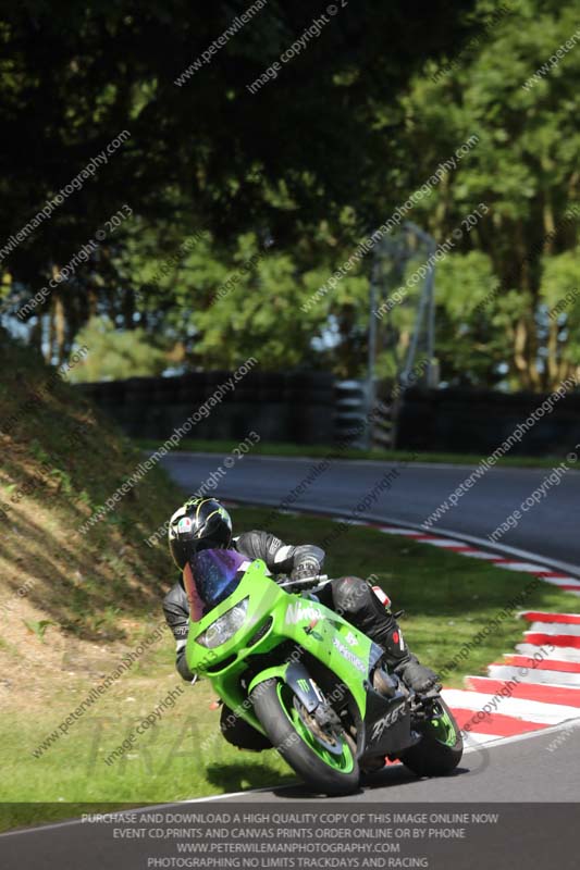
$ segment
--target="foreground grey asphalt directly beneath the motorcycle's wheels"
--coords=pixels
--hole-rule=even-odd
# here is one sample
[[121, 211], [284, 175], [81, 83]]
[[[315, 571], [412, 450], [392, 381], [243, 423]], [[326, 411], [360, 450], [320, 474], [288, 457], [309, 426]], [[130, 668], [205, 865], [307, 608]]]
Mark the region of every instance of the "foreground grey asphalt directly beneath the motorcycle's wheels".
[[[565, 742], [557, 751], [550, 753], [547, 747], [558, 733], [563, 735]], [[330, 801], [329, 798], [311, 797], [304, 790], [291, 786], [246, 793], [244, 801], [261, 805], [261, 809], [271, 808], [272, 804], [277, 803], [284, 805], [288, 811], [293, 811], [293, 808], [297, 811], [304, 810], [305, 804], [310, 806], [317, 804], [330, 809], [336, 808], [341, 803], [351, 804], [354, 800], [368, 801], [374, 810], [381, 807], [397, 808], [414, 803], [447, 806], [453, 803], [456, 809], [467, 810], [473, 803], [501, 804], [514, 799], [520, 803], [533, 801], [534, 805], [538, 801], [554, 801], [562, 805], [577, 798], [577, 793], [573, 794], [573, 783], [577, 779], [575, 771], [578, 770], [579, 753], [580, 729], [575, 729], [568, 734], [562, 729], [551, 730], [543, 732], [542, 735], [535, 734], [516, 743], [505, 743], [486, 751], [468, 753], [453, 776], [418, 780], [403, 768], [392, 767], [383, 774], [377, 775], [359, 795], [350, 795], [347, 798], [334, 797]], [[517, 798], [515, 798], [516, 792]], [[213, 800], [209, 806], [212, 811], [219, 812], [220, 806], [224, 804], [227, 806], [234, 801], [239, 804], [239, 795], [225, 796]], [[166, 821], [156, 821], [155, 828], [173, 828], [175, 821], [174, 818], [171, 819], [171, 815], [195, 811], [196, 804], [197, 801], [168, 804], [162, 807], [144, 808], [141, 811], [155, 810], [156, 813], [169, 817]], [[532, 812], [538, 816], [541, 810], [534, 807]], [[541, 826], [540, 817], [538, 821]], [[151, 824], [148, 823], [147, 826], [150, 828]], [[514, 845], [518, 847], [517, 843]], [[557, 848], [556, 844], [552, 844], [552, 848], [554, 847]], [[2, 870], [27, 870], [32, 867], [49, 867], [51, 870], [69, 867], [83, 870], [107, 868], [132, 870], [150, 866], [148, 865], [150, 854], [149, 838], [114, 840], [102, 826], [82, 824], [81, 821], [46, 825], [30, 831], [16, 831], [0, 836]], [[489, 867], [485, 860], [481, 865], [476, 863], [478, 868]], [[476, 863], [471, 866], [474, 867]], [[453, 862], [448, 866], [457, 865]]]

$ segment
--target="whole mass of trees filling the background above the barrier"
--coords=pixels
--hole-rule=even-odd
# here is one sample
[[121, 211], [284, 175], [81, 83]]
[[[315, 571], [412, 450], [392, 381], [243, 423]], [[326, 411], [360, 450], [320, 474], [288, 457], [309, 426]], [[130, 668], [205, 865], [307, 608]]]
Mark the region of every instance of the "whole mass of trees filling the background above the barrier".
[[[0, 248], [131, 134], [2, 260], [2, 293], [22, 303], [133, 210], [29, 316], [29, 340], [60, 361], [91, 318], [108, 318], [112, 331], [164, 336], [185, 366], [255, 355], [359, 375], [372, 254], [317, 290], [474, 134], [408, 215], [443, 243], [478, 203], [489, 209], [437, 264], [442, 376], [545, 389], [580, 373], [580, 44], [550, 62], [578, 32], [576, 4], [458, 5], [338, 3], [255, 95], [247, 85], [324, 5], [269, 0], [181, 84], [245, 2], [30, 0], [5, 13]], [[380, 330], [381, 373], [400, 364], [412, 322], [409, 303]]]

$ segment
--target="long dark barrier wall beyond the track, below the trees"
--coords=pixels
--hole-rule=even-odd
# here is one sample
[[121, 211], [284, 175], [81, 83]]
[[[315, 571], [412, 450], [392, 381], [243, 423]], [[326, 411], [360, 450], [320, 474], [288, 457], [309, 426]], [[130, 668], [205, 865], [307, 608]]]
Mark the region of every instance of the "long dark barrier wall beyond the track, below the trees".
[[[231, 374], [219, 371], [178, 377], [132, 377], [81, 384], [76, 388], [127, 435], [164, 439]], [[390, 405], [386, 384], [377, 384], [375, 398]], [[546, 398], [547, 394], [412, 387], [400, 399], [394, 446], [403, 450], [488, 456]], [[350, 434], [354, 445], [362, 446], [366, 439], [360, 425], [365, 418], [362, 382], [336, 381], [322, 372], [256, 371], [196, 425], [192, 437], [238, 440], [255, 430], [264, 442], [332, 445], [344, 443]], [[580, 391], [575, 391], [534, 423], [510, 455], [565, 456], [579, 436]], [[382, 447], [392, 444], [386, 438], [380, 444], [377, 438], [374, 442]]]

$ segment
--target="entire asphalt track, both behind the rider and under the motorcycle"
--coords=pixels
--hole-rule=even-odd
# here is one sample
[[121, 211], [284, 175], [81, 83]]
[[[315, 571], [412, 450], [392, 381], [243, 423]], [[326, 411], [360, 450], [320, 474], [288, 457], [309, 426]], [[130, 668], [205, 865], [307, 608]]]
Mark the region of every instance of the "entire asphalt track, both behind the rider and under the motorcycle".
[[[217, 455], [174, 453], [164, 464], [187, 493], [195, 492], [223, 462]], [[227, 469], [215, 490], [222, 498], [277, 506], [320, 462], [316, 459], [284, 459], [246, 456]], [[398, 522], [420, 526], [441, 502], [470, 473], [469, 467], [334, 461], [311, 485], [287, 504], [286, 508], [308, 508], [320, 512], [351, 515], [357, 504], [375, 484], [398, 468], [391, 487], [377, 497], [360, 519]], [[545, 480], [550, 470], [494, 469], [431, 527], [432, 532], [486, 543], [486, 536]], [[580, 535], [578, 505], [580, 475], [570, 471], [545, 498], [525, 513], [517, 529], [503, 538], [502, 546], [521, 549], [528, 559], [566, 564], [580, 576]], [[558, 745], [554, 748], [554, 742]], [[348, 798], [333, 798], [332, 804], [370, 801], [373, 806], [400, 803], [577, 801], [580, 728], [566, 723], [540, 733], [498, 741], [496, 744], [468, 748], [454, 775], [418, 780], [400, 766], [386, 768], [365, 783]], [[223, 795], [212, 806], [243, 800], [247, 804], [279, 803], [287, 807], [298, 801], [329, 804], [328, 798], [309, 795], [301, 786], [291, 785]], [[195, 805], [202, 801], [188, 801]], [[156, 808], [169, 815], [184, 804]], [[168, 825], [171, 824], [168, 821]], [[163, 823], [161, 823], [163, 825]], [[0, 836], [0, 865], [3, 868], [36, 866], [91, 868], [146, 867], [148, 844], [131, 841], [131, 857], [122, 843], [103, 838], [97, 826], [73, 821], [46, 825]], [[125, 846], [127, 844], [125, 843]], [[50, 863], [42, 856], [51, 856]], [[122, 857], [123, 856], [123, 857]], [[75, 863], [78, 859], [79, 863]], [[121, 862], [120, 862], [121, 861]]]

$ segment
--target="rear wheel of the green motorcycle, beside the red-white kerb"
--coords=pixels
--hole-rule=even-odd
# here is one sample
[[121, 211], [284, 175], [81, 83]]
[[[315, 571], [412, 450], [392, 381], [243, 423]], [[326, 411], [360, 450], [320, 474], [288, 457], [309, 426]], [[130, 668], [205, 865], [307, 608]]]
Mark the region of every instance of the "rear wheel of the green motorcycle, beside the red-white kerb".
[[461, 732], [443, 698], [437, 698], [434, 708], [441, 716], [421, 724], [420, 742], [399, 755], [400, 761], [418, 776], [452, 773], [464, 754]]

